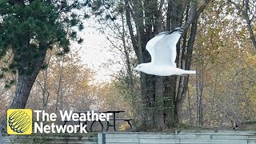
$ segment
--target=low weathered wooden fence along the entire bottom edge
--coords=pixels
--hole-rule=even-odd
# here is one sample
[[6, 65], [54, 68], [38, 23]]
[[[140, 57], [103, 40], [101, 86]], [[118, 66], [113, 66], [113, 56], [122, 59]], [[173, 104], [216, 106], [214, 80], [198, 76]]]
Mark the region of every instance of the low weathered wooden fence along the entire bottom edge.
[[[89, 133], [90, 134], [90, 133]], [[63, 136], [4, 136], [9, 143], [85, 143], [85, 144], [256, 144], [256, 131], [181, 131], [174, 133], [108, 132]]]

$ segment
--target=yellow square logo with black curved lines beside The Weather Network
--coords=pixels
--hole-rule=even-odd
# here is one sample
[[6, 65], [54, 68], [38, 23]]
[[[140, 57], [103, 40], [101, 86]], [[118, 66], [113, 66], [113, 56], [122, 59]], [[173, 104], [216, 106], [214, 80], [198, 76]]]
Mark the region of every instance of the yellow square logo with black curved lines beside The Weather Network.
[[9, 109], [7, 110], [8, 134], [32, 134], [32, 110]]

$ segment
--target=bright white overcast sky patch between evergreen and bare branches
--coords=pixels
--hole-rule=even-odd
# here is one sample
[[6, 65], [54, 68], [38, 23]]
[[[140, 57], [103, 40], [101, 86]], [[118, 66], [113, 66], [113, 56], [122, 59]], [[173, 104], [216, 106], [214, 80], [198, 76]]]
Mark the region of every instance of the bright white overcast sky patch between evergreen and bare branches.
[[110, 42], [104, 34], [100, 34], [95, 27], [97, 23], [92, 20], [86, 20], [85, 29], [78, 33], [84, 42], [82, 45], [74, 45], [74, 49], [82, 48], [80, 56], [82, 63], [89, 66], [90, 69], [96, 72], [95, 79], [97, 82], [107, 82], [112, 78], [110, 75], [121, 70], [120, 65], [110, 66], [110, 69], [104, 68], [102, 65], [108, 60], [118, 61], [117, 55], [110, 52]]

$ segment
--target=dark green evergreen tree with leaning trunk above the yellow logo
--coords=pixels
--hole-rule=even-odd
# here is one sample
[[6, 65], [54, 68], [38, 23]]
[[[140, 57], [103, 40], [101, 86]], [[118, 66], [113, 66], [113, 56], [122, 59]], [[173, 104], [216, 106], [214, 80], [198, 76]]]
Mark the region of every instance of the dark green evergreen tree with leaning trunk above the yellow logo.
[[13, 57], [2, 75], [10, 71], [17, 74], [17, 89], [11, 108], [25, 108], [30, 90], [38, 72], [44, 66], [47, 50], [58, 46], [59, 54], [70, 50], [70, 40], [79, 39], [70, 29], [83, 26], [81, 15], [72, 12], [81, 9], [78, 1], [2, 0], [0, 2], [0, 58], [7, 52]]

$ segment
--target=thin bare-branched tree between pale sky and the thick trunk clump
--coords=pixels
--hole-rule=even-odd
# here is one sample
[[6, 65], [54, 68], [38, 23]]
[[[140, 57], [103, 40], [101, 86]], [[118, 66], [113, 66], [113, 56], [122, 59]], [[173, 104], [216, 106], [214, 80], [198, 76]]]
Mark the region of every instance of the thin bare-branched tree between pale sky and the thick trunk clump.
[[[135, 55], [132, 50], [126, 26], [124, 2], [114, 1], [114, 6], [111, 6], [111, 10], [105, 8], [105, 14], [97, 16], [99, 16], [98, 22], [101, 24], [98, 30], [100, 30], [102, 34], [105, 34], [107, 40], [111, 43], [110, 52], [122, 57], [122, 61], [118, 61], [118, 64], [121, 64], [123, 67], [122, 70], [115, 75], [115, 78], [123, 84], [120, 90], [125, 91], [126, 98], [129, 99], [131, 106], [133, 106], [132, 111], [134, 111], [135, 114], [138, 105], [138, 93], [136, 93], [135, 89], [136, 80], [133, 70]], [[107, 67], [116, 63], [117, 62], [108, 62]]]

